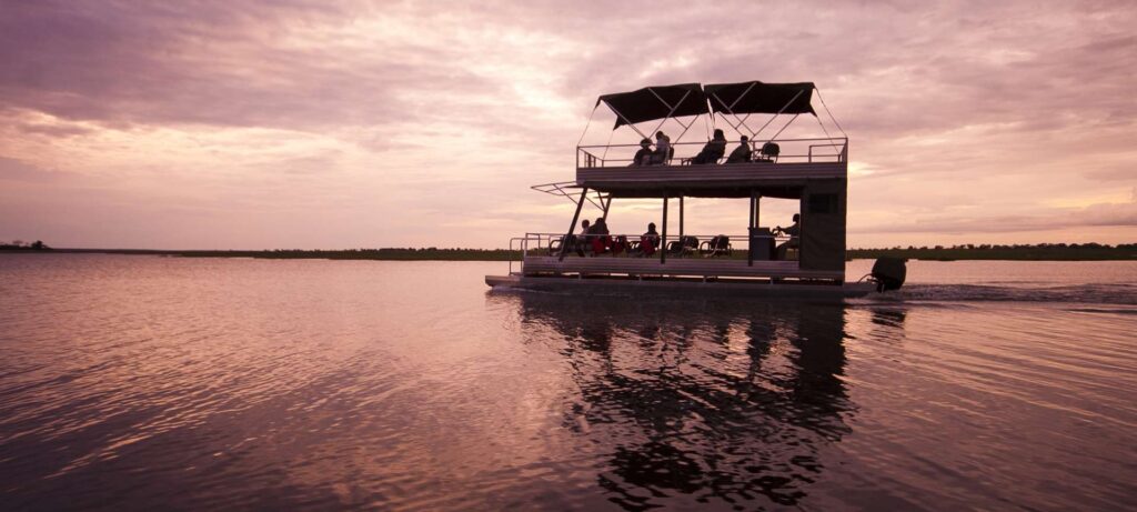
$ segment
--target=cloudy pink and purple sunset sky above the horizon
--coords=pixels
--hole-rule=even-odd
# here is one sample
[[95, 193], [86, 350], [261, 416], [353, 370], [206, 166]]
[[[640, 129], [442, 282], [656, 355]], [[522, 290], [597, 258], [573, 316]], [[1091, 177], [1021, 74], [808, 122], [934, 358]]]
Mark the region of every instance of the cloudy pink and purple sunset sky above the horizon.
[[1137, 3], [929, 5], [0, 0], [0, 240], [505, 247], [597, 96], [761, 80], [848, 133], [852, 247], [1137, 241]]

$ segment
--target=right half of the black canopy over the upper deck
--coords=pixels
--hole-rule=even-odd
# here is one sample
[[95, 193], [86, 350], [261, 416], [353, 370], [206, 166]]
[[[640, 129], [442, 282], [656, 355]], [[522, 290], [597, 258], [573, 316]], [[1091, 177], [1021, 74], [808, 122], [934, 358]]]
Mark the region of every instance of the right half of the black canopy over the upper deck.
[[[752, 86], [753, 85], [753, 86]], [[813, 82], [716, 83], [704, 85], [711, 109], [735, 114], [813, 114]]]

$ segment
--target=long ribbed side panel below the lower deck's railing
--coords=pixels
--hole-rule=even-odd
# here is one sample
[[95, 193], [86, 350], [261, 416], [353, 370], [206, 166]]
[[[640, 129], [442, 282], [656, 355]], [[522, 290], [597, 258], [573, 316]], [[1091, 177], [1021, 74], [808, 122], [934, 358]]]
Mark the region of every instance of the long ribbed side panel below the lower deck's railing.
[[677, 258], [661, 264], [658, 258], [526, 256], [524, 272], [531, 273], [592, 273], [628, 275], [694, 275], [722, 278], [797, 278], [844, 280], [844, 271], [800, 270], [797, 262], [754, 262], [748, 266], [741, 259]]

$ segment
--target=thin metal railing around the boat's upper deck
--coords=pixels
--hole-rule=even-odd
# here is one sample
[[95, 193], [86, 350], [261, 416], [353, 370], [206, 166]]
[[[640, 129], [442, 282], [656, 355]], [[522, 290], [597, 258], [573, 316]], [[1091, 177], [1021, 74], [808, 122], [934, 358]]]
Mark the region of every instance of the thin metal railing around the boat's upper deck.
[[[766, 142], [779, 146], [777, 157], [764, 156], [762, 147]], [[717, 164], [727, 162], [727, 157], [738, 147], [740, 142], [729, 141], [727, 151]], [[753, 140], [747, 142], [750, 146], [752, 163], [843, 163], [848, 160], [848, 139], [781, 139], [781, 140]], [[686, 162], [695, 157], [706, 144], [706, 142], [673, 142], [674, 156], [665, 164], [656, 165], [684, 165]], [[607, 144], [607, 146], [578, 146], [576, 167], [626, 167], [634, 164], [632, 162], [639, 144]], [[609, 156], [611, 155], [611, 156]]]

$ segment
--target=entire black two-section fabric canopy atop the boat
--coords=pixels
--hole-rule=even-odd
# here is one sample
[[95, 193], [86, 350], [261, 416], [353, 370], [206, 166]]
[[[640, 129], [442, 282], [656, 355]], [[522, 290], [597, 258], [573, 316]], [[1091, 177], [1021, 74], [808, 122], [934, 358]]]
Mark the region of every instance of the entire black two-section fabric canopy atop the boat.
[[616, 114], [615, 130], [625, 124], [712, 113], [816, 115], [811, 105], [814, 89], [813, 82], [681, 83], [604, 94], [596, 105], [603, 102]]

